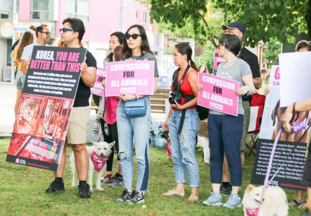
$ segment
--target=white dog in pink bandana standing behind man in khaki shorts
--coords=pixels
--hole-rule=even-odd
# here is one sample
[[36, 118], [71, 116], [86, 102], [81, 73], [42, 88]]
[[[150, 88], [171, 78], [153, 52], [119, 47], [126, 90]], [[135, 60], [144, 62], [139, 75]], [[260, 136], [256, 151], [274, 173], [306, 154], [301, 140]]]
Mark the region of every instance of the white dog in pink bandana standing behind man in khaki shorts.
[[[90, 186], [90, 191], [93, 192], [93, 172], [94, 170], [97, 171], [97, 181], [96, 181], [96, 189], [100, 191], [104, 191], [104, 189], [101, 186], [101, 178], [103, 176], [104, 167], [106, 165], [106, 162], [108, 160], [109, 154], [111, 154], [112, 150], [111, 147], [116, 143], [116, 141], [113, 141], [112, 143], [106, 143], [106, 142], [93, 142], [91, 141], [93, 146], [86, 146], [86, 150], [88, 152], [88, 180], [87, 183]], [[74, 161], [74, 154], [73, 152], [70, 155], [70, 167], [72, 170], [72, 187], [77, 186], [77, 169], [75, 166]]]

